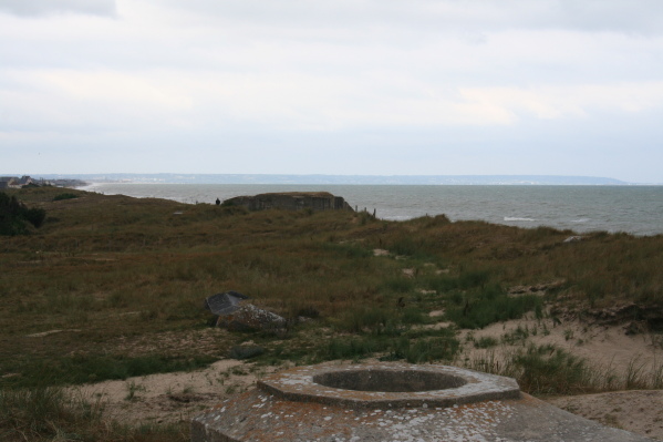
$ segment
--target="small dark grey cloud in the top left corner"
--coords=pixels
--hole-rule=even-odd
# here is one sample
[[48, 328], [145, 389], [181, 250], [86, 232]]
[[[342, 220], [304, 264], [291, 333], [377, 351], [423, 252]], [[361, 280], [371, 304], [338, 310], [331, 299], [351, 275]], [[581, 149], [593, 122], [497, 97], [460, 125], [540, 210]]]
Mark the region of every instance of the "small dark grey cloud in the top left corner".
[[43, 17], [59, 13], [115, 16], [115, 0], [0, 0], [0, 12], [20, 17]]

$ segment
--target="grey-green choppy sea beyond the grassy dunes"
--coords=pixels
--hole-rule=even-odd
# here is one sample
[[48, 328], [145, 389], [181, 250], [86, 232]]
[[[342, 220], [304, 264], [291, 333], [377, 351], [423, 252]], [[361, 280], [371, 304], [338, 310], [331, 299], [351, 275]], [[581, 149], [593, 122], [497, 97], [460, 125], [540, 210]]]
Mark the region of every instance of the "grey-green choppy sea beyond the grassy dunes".
[[444, 214], [454, 222], [548, 226], [578, 234], [663, 235], [663, 186], [95, 183], [84, 189], [187, 204], [271, 192], [330, 192], [359, 210], [389, 220]]

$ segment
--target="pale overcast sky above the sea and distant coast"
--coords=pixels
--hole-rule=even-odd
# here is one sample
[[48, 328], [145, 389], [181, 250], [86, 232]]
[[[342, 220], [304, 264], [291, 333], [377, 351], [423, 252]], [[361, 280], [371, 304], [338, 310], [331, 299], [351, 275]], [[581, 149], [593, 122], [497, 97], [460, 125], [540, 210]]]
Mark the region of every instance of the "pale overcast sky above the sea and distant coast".
[[0, 0], [0, 174], [663, 183], [662, 0]]

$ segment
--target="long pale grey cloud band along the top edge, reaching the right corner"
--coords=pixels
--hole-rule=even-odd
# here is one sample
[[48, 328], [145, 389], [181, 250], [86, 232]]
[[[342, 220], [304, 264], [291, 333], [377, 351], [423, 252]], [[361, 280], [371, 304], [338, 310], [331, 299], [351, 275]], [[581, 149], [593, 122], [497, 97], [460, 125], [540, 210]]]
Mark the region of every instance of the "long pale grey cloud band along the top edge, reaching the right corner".
[[570, 29], [657, 34], [661, 0], [152, 0], [228, 20], [276, 27], [336, 28], [394, 25], [438, 32], [508, 29]]

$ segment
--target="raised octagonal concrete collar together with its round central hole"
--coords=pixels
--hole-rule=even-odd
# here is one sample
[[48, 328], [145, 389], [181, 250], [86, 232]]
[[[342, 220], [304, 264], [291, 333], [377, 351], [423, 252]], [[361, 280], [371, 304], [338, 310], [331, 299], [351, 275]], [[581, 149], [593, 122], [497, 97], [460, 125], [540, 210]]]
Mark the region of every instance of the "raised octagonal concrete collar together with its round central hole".
[[518, 383], [509, 378], [398, 362], [298, 367], [259, 380], [258, 388], [289, 401], [375, 409], [444, 408], [520, 398]]

